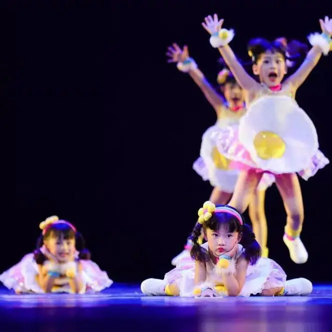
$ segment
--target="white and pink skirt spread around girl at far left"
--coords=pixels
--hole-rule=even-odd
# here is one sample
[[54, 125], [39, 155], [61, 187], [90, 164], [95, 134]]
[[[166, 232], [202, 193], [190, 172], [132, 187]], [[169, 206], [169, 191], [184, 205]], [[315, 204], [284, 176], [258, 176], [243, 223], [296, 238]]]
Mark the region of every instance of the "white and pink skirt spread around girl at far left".
[[[98, 265], [92, 261], [80, 261], [82, 265], [82, 277], [84, 288], [81, 293], [100, 292], [110, 287], [113, 281], [107, 276], [107, 273], [101, 271]], [[0, 275], [0, 281], [16, 293], [44, 293], [37, 283], [38, 266], [33, 259], [33, 254], [25, 255], [22, 260]], [[52, 292], [71, 293], [71, 289], [64, 285]]]

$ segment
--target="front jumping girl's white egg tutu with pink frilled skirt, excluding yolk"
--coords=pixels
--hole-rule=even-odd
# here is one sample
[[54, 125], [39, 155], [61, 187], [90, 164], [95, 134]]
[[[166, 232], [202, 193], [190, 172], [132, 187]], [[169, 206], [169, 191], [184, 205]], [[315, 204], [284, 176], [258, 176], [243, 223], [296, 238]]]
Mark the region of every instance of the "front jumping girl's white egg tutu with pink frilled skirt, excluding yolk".
[[[262, 132], [272, 133], [284, 142], [284, 151], [278, 157], [260, 157], [255, 139]], [[212, 137], [219, 152], [232, 160], [230, 168], [234, 169], [255, 168], [273, 174], [298, 172], [308, 180], [330, 162], [318, 149], [313, 122], [289, 96], [257, 99], [238, 127], [217, 128]]]

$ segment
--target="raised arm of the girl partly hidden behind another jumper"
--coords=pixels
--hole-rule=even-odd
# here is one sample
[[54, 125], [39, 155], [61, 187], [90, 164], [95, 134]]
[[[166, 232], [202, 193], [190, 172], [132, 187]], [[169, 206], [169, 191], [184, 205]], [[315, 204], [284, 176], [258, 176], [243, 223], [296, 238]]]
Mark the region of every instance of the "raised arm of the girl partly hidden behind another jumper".
[[189, 74], [218, 115], [220, 106], [224, 105], [224, 99], [217, 93], [213, 86], [211, 86], [202, 71], [197, 68], [196, 62], [189, 57], [188, 46], [183, 46], [183, 49], [181, 49], [178, 44], [174, 43], [172, 46], [168, 47], [166, 55], [170, 58], [168, 62], [177, 62], [178, 69]]

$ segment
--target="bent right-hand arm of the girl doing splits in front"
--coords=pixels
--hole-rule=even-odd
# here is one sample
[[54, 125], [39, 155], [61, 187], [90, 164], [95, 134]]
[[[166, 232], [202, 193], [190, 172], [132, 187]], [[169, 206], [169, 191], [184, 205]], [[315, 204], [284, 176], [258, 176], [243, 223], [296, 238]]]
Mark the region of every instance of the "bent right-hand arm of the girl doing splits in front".
[[249, 263], [244, 259], [244, 257], [241, 256], [236, 263], [236, 270], [234, 274], [222, 274], [228, 296], [238, 296], [240, 294], [246, 281], [248, 265]]

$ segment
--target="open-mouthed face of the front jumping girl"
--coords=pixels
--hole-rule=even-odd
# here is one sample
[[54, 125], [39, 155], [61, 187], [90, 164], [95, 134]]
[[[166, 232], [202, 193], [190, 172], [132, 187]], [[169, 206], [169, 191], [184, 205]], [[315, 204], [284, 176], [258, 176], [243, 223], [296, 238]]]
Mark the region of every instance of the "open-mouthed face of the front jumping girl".
[[262, 53], [257, 64], [253, 64], [253, 72], [267, 86], [280, 84], [287, 73], [284, 55], [281, 53], [272, 53], [271, 51]]

